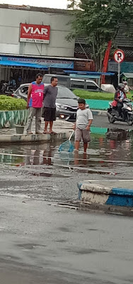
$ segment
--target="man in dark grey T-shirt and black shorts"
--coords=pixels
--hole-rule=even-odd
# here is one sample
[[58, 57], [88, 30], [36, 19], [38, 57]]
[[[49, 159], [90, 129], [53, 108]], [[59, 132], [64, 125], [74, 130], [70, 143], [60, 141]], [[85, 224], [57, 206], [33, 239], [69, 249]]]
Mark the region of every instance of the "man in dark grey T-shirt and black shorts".
[[[45, 129], [43, 133], [54, 133], [52, 130], [53, 121], [56, 120], [56, 99], [57, 99], [57, 77], [51, 78], [51, 84], [45, 87], [45, 99], [44, 99], [44, 120]], [[50, 131], [47, 131], [47, 126], [50, 123]]]

